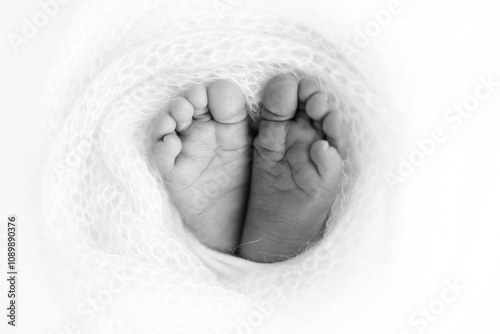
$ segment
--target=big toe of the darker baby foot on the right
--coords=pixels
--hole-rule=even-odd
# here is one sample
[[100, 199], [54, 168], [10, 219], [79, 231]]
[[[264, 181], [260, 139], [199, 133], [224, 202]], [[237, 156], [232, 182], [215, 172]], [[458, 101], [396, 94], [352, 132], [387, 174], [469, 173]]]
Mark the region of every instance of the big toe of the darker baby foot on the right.
[[293, 118], [298, 108], [299, 83], [289, 74], [271, 78], [264, 87], [262, 118], [269, 121], [285, 121]]

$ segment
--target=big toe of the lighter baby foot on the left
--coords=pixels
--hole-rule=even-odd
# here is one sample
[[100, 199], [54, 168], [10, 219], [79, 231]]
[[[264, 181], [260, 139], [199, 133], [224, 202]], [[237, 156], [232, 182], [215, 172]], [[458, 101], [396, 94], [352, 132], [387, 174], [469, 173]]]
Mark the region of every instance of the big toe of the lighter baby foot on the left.
[[208, 109], [219, 123], [234, 124], [245, 120], [245, 105], [243, 92], [231, 81], [217, 80], [208, 87]]

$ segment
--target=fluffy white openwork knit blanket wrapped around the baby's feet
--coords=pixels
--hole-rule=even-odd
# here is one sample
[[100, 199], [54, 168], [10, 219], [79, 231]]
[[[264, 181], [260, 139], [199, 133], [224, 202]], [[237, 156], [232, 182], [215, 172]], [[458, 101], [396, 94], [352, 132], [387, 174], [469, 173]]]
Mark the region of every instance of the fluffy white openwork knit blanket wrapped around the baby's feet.
[[[340, 47], [342, 27], [314, 10], [293, 1], [83, 3], [46, 100], [44, 203], [62, 302], [106, 304], [85, 323], [89, 333], [261, 330], [256, 310], [341, 289], [390, 247], [379, 236], [391, 117], [373, 76]], [[173, 97], [219, 78], [239, 84], [255, 119], [263, 84], [283, 72], [321, 81], [348, 126], [349, 159], [323, 240], [257, 265], [187, 232], [152, 163], [151, 128]]]

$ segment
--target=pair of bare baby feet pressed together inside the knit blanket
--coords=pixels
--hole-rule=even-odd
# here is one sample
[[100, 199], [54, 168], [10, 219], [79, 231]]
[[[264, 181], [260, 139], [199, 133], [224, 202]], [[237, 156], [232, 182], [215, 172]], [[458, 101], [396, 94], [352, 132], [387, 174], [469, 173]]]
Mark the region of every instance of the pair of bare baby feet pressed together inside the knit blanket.
[[311, 79], [269, 80], [252, 135], [233, 82], [195, 85], [155, 125], [154, 157], [173, 203], [206, 246], [278, 262], [321, 236], [342, 176], [347, 133]]

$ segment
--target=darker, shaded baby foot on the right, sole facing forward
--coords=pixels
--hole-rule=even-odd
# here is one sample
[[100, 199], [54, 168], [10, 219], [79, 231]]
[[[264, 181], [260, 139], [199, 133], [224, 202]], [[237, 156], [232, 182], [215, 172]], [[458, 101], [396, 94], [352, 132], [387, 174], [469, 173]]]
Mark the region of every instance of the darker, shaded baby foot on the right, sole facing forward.
[[262, 103], [239, 254], [278, 262], [321, 235], [341, 180], [347, 134], [312, 80], [275, 76]]

